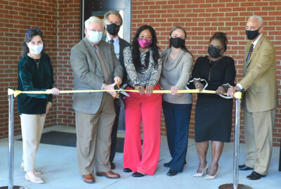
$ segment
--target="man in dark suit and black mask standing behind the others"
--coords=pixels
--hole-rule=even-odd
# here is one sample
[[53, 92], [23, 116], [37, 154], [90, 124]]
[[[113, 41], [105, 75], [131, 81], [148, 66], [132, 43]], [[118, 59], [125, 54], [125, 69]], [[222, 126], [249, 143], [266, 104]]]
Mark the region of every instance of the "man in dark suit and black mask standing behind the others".
[[[124, 78], [122, 83], [124, 84], [124, 82], [126, 82], [127, 80], [127, 74], [124, 67], [123, 50], [126, 46], [130, 46], [130, 44], [118, 36], [119, 29], [123, 23], [122, 16], [117, 11], [108, 11], [104, 15], [103, 22], [105, 24], [107, 33], [103, 35], [102, 40], [107, 41], [112, 45], [116, 57], [118, 58], [122, 67], [124, 68]], [[118, 130], [119, 113], [120, 113], [119, 100], [117, 99], [115, 99], [115, 112], [116, 112], [116, 117], [112, 127], [111, 147], [110, 147], [111, 169], [115, 169], [115, 164], [113, 163], [113, 159], [115, 158], [115, 152], [117, 147], [117, 130]]]

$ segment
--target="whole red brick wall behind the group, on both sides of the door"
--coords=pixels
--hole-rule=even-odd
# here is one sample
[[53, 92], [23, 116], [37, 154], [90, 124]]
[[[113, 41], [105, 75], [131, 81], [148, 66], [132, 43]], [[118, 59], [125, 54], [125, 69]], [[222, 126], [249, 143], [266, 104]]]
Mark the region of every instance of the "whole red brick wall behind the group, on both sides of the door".
[[[32, 8], [32, 11], [30, 11]], [[159, 46], [169, 44], [169, 32], [174, 26], [185, 27], [188, 32], [186, 44], [195, 58], [207, 55], [209, 38], [216, 31], [228, 34], [227, 56], [235, 59], [237, 81], [242, 78], [242, 58], [247, 39], [244, 26], [251, 15], [261, 15], [264, 34], [273, 41], [277, 55], [277, 84], [280, 93], [281, 79], [281, 1], [268, 0], [132, 0], [132, 36], [138, 27], [152, 25], [157, 32]], [[0, 138], [8, 133], [8, 87], [16, 87], [17, 63], [20, 60], [20, 43], [26, 30], [39, 27], [44, 31], [47, 52], [51, 55], [56, 86], [60, 90], [73, 87], [70, 67], [70, 50], [80, 39], [80, 1], [0, 1]], [[194, 96], [195, 97], [195, 96]], [[74, 126], [72, 95], [55, 98], [56, 103], [48, 115], [46, 126], [59, 124]], [[280, 101], [280, 100], [279, 100]], [[194, 106], [190, 122], [190, 137], [194, 137]], [[15, 108], [17, 112], [17, 108]], [[234, 112], [234, 111], [233, 111]], [[162, 117], [163, 118], [163, 117]], [[242, 122], [243, 126], [243, 122]], [[15, 129], [20, 133], [18, 114]], [[242, 130], [243, 133], [243, 130]], [[164, 120], [162, 134], [165, 134]], [[277, 108], [274, 145], [280, 145], [281, 110]], [[242, 135], [242, 138], [244, 136]]]

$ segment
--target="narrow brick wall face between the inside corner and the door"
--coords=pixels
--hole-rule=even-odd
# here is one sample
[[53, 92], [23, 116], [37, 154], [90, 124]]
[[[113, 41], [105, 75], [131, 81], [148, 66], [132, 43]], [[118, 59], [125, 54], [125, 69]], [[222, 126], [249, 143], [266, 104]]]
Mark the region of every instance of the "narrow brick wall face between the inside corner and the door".
[[[80, 1], [59, 1], [58, 7], [58, 77], [60, 90], [73, 89], [73, 74], [70, 66], [71, 48], [80, 41]], [[57, 123], [75, 126], [72, 95], [58, 96]]]

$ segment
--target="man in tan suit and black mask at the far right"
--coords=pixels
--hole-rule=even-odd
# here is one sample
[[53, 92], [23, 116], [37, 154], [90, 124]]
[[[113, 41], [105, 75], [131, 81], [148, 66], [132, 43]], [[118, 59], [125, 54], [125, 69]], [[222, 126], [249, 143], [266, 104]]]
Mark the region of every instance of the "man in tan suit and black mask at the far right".
[[268, 174], [277, 107], [275, 49], [262, 32], [262, 18], [251, 16], [246, 26], [250, 41], [244, 53], [244, 77], [237, 86], [228, 89], [230, 96], [235, 90], [245, 91], [243, 110], [247, 162], [240, 165], [239, 169], [254, 170], [247, 176], [251, 180]]

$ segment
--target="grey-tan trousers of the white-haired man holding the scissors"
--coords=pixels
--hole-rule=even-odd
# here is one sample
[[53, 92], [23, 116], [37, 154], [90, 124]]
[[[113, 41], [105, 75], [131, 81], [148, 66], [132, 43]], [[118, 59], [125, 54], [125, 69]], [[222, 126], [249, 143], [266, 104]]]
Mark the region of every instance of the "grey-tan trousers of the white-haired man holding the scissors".
[[81, 175], [110, 171], [111, 131], [115, 120], [113, 98], [103, 94], [96, 114], [75, 111], [77, 133], [77, 162]]

